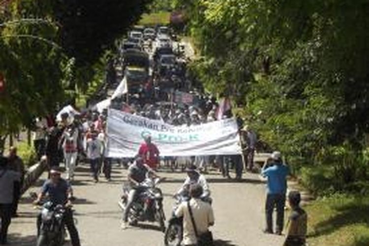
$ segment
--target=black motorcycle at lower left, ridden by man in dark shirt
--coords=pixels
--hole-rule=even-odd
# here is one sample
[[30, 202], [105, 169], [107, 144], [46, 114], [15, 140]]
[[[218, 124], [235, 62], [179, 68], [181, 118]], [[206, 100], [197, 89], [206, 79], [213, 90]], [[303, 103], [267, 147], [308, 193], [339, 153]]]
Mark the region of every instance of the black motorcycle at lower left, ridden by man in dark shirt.
[[41, 209], [41, 225], [37, 237], [37, 246], [62, 246], [66, 232], [63, 217], [63, 205], [46, 202]]

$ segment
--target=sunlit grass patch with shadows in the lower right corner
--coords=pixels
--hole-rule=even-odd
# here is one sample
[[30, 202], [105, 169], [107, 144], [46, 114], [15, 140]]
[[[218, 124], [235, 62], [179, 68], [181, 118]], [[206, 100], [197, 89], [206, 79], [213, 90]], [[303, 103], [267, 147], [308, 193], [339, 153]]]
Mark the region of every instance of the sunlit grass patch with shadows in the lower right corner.
[[369, 246], [369, 197], [333, 195], [306, 211], [309, 246]]

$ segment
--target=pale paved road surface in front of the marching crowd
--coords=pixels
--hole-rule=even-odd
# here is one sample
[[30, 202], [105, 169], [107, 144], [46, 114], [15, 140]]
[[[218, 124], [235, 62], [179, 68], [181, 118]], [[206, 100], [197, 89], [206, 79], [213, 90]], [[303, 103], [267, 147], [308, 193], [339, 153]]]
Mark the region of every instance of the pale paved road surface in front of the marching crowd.
[[[126, 170], [113, 168], [113, 181], [101, 179], [92, 183], [87, 166], [77, 170], [73, 184], [76, 218], [83, 246], [161, 246], [163, 233], [156, 224], [147, 223], [140, 228], [120, 229], [121, 211], [117, 201]], [[184, 181], [184, 173], [165, 173], [167, 180], [161, 184], [164, 193], [164, 209], [171, 214], [174, 200], [171, 195]], [[220, 175], [206, 175], [214, 199], [215, 226], [212, 231], [219, 246], [274, 246], [281, 245], [282, 237], [264, 235], [264, 184], [256, 175], [246, 174], [242, 183], [233, 183]], [[39, 189], [42, 179], [30, 191]], [[10, 243], [16, 246], [35, 245], [35, 216], [28, 192], [22, 198], [19, 218], [10, 225]]]

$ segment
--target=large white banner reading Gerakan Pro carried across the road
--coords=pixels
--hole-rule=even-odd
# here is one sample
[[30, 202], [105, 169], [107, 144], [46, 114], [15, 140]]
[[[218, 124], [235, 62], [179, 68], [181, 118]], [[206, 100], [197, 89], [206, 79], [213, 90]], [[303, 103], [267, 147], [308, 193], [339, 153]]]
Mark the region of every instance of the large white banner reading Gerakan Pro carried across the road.
[[160, 156], [241, 154], [234, 119], [193, 126], [173, 126], [160, 121], [110, 109], [107, 123], [107, 157], [133, 157], [146, 135]]

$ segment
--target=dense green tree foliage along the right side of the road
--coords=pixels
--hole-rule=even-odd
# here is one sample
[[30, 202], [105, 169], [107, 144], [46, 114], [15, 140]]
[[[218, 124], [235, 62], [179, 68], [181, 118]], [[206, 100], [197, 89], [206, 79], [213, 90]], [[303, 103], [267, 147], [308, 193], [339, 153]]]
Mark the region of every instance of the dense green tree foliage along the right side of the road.
[[[230, 95], [273, 149], [295, 164], [327, 163], [343, 153], [364, 156], [368, 0], [176, 4], [186, 10], [187, 30], [201, 51], [193, 69], [208, 90]], [[361, 176], [360, 164], [346, 164], [349, 172], [337, 171], [342, 183]]]

